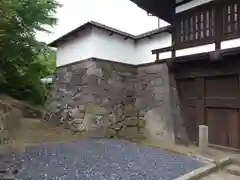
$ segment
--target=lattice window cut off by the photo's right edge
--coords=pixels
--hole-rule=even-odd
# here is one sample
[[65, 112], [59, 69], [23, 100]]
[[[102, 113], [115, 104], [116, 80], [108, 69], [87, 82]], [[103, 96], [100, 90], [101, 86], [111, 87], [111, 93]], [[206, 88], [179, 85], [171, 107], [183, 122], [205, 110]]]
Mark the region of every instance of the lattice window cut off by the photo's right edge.
[[233, 34], [240, 31], [240, 2], [223, 7], [223, 33]]

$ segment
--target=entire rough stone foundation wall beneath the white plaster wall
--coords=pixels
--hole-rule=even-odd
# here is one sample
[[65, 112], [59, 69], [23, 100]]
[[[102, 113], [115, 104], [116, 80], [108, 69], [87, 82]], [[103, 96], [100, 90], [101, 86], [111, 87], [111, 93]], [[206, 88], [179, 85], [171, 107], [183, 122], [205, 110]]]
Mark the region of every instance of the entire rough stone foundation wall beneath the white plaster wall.
[[97, 136], [172, 141], [177, 123], [169, 82], [165, 64], [89, 59], [59, 67], [46, 120]]

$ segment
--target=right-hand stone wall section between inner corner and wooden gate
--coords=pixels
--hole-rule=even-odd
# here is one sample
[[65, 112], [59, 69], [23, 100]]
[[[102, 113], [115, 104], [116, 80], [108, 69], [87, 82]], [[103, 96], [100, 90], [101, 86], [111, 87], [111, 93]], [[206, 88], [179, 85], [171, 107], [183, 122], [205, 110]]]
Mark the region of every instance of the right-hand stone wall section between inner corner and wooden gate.
[[136, 109], [146, 122], [147, 138], [174, 143], [167, 65], [156, 63], [139, 67], [136, 79]]

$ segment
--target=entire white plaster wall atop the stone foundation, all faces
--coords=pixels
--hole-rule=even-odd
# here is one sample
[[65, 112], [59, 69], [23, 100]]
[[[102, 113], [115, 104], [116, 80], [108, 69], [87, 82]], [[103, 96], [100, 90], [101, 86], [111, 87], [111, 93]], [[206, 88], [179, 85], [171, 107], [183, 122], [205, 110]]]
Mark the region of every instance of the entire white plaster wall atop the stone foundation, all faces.
[[[144, 64], [154, 62], [156, 56], [153, 49], [171, 46], [170, 33], [143, 38], [137, 43], [132, 39], [124, 40], [123, 36], [92, 28], [69, 38], [57, 48], [57, 67], [81, 61], [88, 58], [99, 58], [127, 64]], [[170, 58], [171, 53], [160, 55], [162, 59]]]

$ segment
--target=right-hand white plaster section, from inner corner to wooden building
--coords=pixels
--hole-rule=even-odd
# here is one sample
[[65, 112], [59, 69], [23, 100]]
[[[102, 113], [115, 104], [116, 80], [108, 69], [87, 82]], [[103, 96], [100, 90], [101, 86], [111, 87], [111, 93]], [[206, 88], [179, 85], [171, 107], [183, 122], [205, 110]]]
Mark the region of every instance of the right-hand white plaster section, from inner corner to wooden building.
[[[152, 50], [164, 48], [172, 45], [172, 36], [170, 33], [162, 33], [152, 36], [149, 38], [144, 38], [137, 43], [137, 53], [136, 61], [137, 64], [144, 64], [154, 62], [156, 60], [156, 55], [152, 54]], [[159, 57], [160, 59], [170, 58], [171, 53], [162, 53]]]

